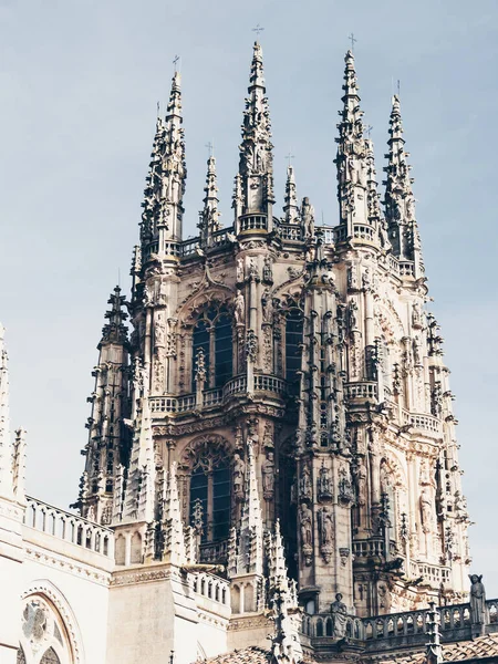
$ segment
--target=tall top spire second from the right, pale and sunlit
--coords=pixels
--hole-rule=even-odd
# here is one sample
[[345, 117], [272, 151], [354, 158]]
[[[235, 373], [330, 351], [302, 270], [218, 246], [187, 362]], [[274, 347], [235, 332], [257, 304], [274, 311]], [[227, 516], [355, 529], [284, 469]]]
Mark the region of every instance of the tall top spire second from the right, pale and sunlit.
[[353, 224], [367, 222], [366, 190], [366, 142], [363, 137], [363, 111], [360, 110], [360, 95], [356, 84], [354, 58], [351, 51], [345, 55], [343, 110], [338, 124], [338, 199], [341, 226], [346, 227], [340, 240], [354, 237]]

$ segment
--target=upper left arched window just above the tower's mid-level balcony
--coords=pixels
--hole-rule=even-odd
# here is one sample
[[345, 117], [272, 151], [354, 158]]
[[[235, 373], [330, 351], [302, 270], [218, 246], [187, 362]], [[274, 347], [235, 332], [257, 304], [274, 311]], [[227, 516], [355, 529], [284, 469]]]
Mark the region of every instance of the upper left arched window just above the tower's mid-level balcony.
[[[196, 390], [195, 364], [204, 352], [206, 388], [222, 387], [234, 374], [232, 318], [226, 307], [210, 307], [198, 319], [193, 333], [191, 388]], [[211, 363], [212, 359], [212, 363]]]

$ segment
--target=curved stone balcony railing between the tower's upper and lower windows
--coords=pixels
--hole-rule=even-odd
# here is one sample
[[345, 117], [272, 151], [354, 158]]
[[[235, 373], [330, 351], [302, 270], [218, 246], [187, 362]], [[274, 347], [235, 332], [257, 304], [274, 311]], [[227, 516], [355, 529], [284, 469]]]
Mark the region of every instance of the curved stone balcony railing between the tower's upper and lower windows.
[[[278, 376], [268, 374], [256, 374], [253, 377], [253, 392], [266, 392], [277, 398], [283, 398], [288, 394], [286, 381]], [[203, 392], [203, 407], [216, 407], [225, 404], [231, 396], [237, 394], [247, 394], [247, 376], [235, 376], [228, 381], [224, 387], [206, 390]], [[183, 396], [151, 396], [149, 406], [152, 413], [189, 413], [197, 411], [196, 394], [185, 394]]]

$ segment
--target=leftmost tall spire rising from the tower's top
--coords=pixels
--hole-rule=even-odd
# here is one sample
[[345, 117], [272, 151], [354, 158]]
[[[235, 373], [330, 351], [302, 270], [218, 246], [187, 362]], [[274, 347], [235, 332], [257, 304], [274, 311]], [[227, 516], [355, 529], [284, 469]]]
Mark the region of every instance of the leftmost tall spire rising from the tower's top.
[[[170, 242], [181, 241], [183, 198], [187, 168], [181, 127], [180, 74], [175, 72], [166, 118], [157, 118], [147, 185], [144, 191], [142, 242], [144, 258], [151, 253], [170, 253]], [[144, 251], [157, 241], [152, 251]]]

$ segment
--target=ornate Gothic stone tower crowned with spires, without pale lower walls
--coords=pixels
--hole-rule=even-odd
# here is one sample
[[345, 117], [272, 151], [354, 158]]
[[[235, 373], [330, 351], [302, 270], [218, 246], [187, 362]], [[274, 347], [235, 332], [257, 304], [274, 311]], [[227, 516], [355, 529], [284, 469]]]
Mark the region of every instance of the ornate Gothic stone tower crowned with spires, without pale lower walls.
[[425, 309], [400, 100], [381, 207], [351, 52], [343, 93], [338, 225], [315, 224], [292, 166], [278, 216], [256, 43], [234, 225], [219, 222], [211, 156], [199, 235], [184, 240], [175, 73], [134, 250], [129, 343], [116, 290], [98, 346], [83, 516], [122, 533], [117, 564], [225, 566], [242, 622], [268, 605], [276, 541], [307, 613], [339, 593], [365, 616], [458, 601], [466, 588], [453, 396]]

